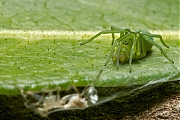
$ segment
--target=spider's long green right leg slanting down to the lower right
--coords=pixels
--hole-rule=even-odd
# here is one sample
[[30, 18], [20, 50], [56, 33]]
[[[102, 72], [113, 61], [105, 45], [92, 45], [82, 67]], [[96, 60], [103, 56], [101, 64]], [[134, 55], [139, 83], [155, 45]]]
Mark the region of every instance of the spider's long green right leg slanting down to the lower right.
[[[144, 36], [142, 36], [142, 37], [144, 37]], [[153, 36], [152, 36], [152, 37], [153, 37]], [[167, 56], [167, 54], [165, 53], [165, 51], [162, 49], [162, 47], [161, 47], [160, 45], [158, 45], [156, 42], [152, 41], [149, 37], [146, 37], [146, 38], [144, 37], [144, 39], [147, 40], [148, 42], [150, 42], [151, 44], [153, 44], [154, 46], [156, 46], [157, 48], [159, 48], [159, 50], [161, 51], [161, 53], [162, 53], [170, 62], [174, 63], [174, 61], [171, 60], [171, 59]], [[162, 43], [164, 43], [164, 42], [162, 42]], [[166, 45], [166, 44], [164, 43], [163, 45]], [[167, 46], [167, 45], [166, 45], [166, 46]]]

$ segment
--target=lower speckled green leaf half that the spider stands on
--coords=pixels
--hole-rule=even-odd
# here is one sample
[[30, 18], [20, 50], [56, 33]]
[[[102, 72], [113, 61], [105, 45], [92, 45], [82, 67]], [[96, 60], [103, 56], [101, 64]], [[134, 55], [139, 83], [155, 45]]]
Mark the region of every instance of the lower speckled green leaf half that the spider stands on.
[[[86, 86], [95, 79], [101, 69], [103, 73], [96, 84], [97, 87], [139, 86], [179, 77], [177, 39], [166, 40], [170, 48], [164, 47], [174, 64], [170, 63], [159, 49], [153, 47], [146, 57], [133, 61], [133, 71], [129, 73], [128, 63], [120, 64], [119, 70], [112, 61], [103, 67], [111, 49], [111, 41], [107, 39], [110, 36], [102, 36], [103, 39], [80, 46], [82, 40], [72, 39], [68, 34], [65, 36], [69, 39], [62, 39], [62, 34], [55, 31], [41, 32], [39, 38], [36, 35], [38, 31], [34, 33], [2, 32], [1, 36], [4, 38], [0, 39], [1, 94], [19, 94], [17, 87], [38, 91], [45, 86], [60, 86], [62, 89], [71, 84]], [[8, 34], [11, 37], [8, 38]], [[16, 36], [13, 37], [13, 34]], [[74, 36], [76, 34], [87, 36], [83, 33], [74, 33]], [[157, 43], [161, 44], [159, 40]]]

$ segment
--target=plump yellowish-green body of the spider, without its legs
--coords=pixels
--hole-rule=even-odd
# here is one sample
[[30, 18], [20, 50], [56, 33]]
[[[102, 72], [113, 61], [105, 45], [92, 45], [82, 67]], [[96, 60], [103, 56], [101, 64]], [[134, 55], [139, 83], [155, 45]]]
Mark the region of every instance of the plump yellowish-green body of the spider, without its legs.
[[[129, 31], [129, 32], [131, 34], [127, 37], [127, 39], [123, 39], [121, 42], [117, 41], [117, 43], [115, 43], [114, 52], [112, 54], [112, 61], [114, 62], [114, 64], [117, 63], [117, 60], [119, 60], [119, 62], [121, 63], [124, 63], [130, 60], [131, 49], [132, 49], [135, 37], [138, 37], [137, 39], [139, 41], [136, 44], [134, 44], [132, 60], [145, 57], [146, 53], [150, 51], [153, 46], [150, 42], [146, 41], [147, 36], [143, 36], [144, 34], [150, 34], [148, 31], [138, 30], [135, 32], [132, 32], [132, 31]], [[124, 33], [123, 35], [125, 34], [127, 33]], [[148, 39], [151, 41], [154, 41], [153, 37], [148, 37]], [[144, 44], [144, 46], [142, 46], [142, 44]]]

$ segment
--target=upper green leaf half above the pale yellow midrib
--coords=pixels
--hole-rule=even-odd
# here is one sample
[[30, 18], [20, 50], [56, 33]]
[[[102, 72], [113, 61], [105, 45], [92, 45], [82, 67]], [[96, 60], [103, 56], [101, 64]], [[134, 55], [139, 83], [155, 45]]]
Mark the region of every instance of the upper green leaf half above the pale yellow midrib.
[[178, 30], [179, 0], [1, 0], [0, 29]]

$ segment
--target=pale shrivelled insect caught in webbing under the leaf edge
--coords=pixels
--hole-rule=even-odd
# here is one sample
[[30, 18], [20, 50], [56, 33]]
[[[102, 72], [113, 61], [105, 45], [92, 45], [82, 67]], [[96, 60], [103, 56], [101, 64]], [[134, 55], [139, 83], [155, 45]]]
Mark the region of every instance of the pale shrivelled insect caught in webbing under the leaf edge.
[[[83, 89], [82, 93], [79, 93], [78, 89], [72, 86], [76, 93], [67, 94], [62, 98], [60, 98], [60, 87], [54, 90], [45, 88], [41, 93], [34, 93], [31, 91], [24, 93], [22, 89], [20, 89], [20, 92], [25, 99], [25, 106], [42, 117], [47, 117], [50, 113], [57, 111], [85, 109], [96, 104], [98, 101], [97, 90], [94, 84], [99, 79], [101, 73], [102, 70], [99, 72], [96, 79]], [[53, 94], [55, 91], [57, 91], [56, 95]], [[29, 97], [34, 98], [36, 102], [31, 103], [30, 99], [28, 99]]]

